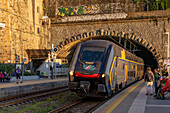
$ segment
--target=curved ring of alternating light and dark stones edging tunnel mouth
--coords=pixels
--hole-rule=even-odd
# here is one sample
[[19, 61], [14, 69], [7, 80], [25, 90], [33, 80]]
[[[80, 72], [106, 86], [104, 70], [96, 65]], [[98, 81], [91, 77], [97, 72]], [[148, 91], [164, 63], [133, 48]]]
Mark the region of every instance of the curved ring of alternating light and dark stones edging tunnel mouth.
[[[143, 50], [149, 51], [148, 55], [152, 55], [155, 62], [157, 62], [156, 67], [161, 67], [163, 65], [163, 60], [161, 54], [154, 48], [154, 46], [147, 42], [145, 39], [140, 38], [135, 33], [127, 33], [127, 32], [120, 32], [115, 30], [105, 30], [105, 29], [99, 29], [91, 32], [85, 32], [82, 34], [78, 34], [77, 36], [72, 36], [71, 38], [66, 39], [65, 41], [61, 42], [59, 45], [57, 45], [59, 51], [57, 52], [58, 57], [65, 57], [69, 54], [69, 50], [75, 46], [76, 44], [80, 43], [81, 41], [86, 41], [90, 39], [95, 39], [98, 37], [122, 37], [126, 38], [128, 40], [131, 40], [133, 43], [137, 44]], [[138, 54], [138, 53], [136, 53]], [[137, 55], [138, 56], [138, 55]], [[140, 55], [139, 55], [140, 56]], [[140, 56], [141, 57], [141, 56]], [[156, 63], [155, 63], [156, 64]], [[155, 67], [154, 67], [155, 68]]]

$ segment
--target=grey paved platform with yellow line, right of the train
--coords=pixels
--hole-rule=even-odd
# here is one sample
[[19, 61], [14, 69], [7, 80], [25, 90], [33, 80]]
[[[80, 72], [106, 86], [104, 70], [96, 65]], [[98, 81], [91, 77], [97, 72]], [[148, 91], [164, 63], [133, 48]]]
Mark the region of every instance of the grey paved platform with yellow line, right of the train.
[[170, 94], [165, 100], [146, 95], [143, 80], [121, 91], [93, 113], [170, 113]]

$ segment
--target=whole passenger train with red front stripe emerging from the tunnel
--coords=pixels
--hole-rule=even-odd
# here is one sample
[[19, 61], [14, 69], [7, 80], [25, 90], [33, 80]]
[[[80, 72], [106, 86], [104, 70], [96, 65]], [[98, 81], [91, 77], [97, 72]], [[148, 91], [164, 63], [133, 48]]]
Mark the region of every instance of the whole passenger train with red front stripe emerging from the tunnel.
[[144, 61], [113, 42], [80, 43], [69, 68], [69, 89], [79, 96], [108, 97], [143, 77]]

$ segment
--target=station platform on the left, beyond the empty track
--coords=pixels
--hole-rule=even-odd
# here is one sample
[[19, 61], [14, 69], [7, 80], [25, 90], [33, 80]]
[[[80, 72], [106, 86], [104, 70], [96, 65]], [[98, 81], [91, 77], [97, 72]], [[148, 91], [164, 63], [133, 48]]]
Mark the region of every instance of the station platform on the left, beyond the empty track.
[[43, 78], [38, 80], [27, 80], [19, 84], [16, 84], [16, 82], [0, 82], [0, 98], [47, 90], [67, 85], [67, 77], [57, 77], [56, 79]]

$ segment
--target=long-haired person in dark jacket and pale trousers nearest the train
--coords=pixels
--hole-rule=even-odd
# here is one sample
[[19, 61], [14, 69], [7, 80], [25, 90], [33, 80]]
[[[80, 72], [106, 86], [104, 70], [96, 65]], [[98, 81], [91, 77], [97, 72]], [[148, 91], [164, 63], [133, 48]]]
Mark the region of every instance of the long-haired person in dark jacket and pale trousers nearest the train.
[[153, 81], [154, 81], [154, 74], [151, 71], [151, 68], [148, 67], [146, 69], [145, 75], [144, 75], [144, 81], [146, 82], [146, 95], [149, 94], [149, 87], [150, 87], [150, 95], [153, 95]]

